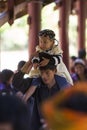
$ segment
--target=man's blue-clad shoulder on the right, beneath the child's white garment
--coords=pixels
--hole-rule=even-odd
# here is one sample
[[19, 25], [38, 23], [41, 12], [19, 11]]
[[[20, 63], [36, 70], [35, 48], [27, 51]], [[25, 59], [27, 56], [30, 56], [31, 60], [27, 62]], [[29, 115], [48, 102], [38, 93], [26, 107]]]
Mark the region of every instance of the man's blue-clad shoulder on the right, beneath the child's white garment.
[[55, 75], [55, 79], [56, 79], [56, 82], [59, 85], [60, 89], [71, 87], [71, 84], [69, 84], [64, 77]]

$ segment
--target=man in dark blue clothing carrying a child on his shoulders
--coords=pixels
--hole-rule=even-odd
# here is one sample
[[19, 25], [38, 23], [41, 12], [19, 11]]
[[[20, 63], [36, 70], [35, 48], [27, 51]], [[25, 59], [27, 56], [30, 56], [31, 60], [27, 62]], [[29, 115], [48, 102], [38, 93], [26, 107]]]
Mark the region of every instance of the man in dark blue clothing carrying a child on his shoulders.
[[[33, 79], [32, 81], [32, 85], [37, 86], [37, 90], [35, 92], [36, 108], [32, 115], [32, 127], [34, 128], [32, 128], [32, 130], [35, 130], [35, 127], [37, 127], [37, 129], [39, 130], [39, 128], [45, 126], [44, 119], [40, 112], [41, 103], [48, 98], [51, 98], [54, 95], [58, 94], [59, 91], [71, 87], [71, 85], [64, 77], [56, 75], [57, 69], [54, 64], [49, 63], [46, 66], [39, 67], [39, 69], [41, 76], [39, 78]], [[27, 99], [28, 94], [26, 96], [26, 100]], [[35, 122], [35, 120], [37, 120], [37, 122]]]

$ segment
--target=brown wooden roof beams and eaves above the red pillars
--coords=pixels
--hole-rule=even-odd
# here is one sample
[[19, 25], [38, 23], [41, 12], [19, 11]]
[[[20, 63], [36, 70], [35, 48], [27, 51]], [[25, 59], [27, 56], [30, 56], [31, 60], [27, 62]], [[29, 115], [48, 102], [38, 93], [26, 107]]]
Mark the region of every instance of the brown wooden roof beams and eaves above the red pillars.
[[[0, 26], [6, 22], [11, 25], [15, 19], [26, 15], [27, 4], [32, 1], [42, 2], [43, 6], [55, 2], [55, 9], [62, 4], [62, 0], [0, 0]], [[71, 2], [71, 13], [76, 12], [76, 1]]]

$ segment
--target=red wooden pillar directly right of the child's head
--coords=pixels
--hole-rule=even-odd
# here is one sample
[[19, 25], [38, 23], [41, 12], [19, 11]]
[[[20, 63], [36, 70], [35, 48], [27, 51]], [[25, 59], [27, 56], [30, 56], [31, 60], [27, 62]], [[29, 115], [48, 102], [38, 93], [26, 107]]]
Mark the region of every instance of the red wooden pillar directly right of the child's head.
[[59, 41], [63, 49], [63, 61], [69, 69], [69, 38], [68, 24], [69, 14], [71, 11], [71, 0], [62, 0], [62, 5], [59, 8]]

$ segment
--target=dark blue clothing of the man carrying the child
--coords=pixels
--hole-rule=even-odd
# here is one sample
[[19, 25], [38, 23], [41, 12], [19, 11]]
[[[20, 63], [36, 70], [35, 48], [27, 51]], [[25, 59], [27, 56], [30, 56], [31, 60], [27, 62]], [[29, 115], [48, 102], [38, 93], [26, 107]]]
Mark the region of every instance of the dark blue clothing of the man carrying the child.
[[43, 101], [57, 94], [60, 90], [71, 86], [64, 77], [61, 77], [59, 75], [55, 75], [55, 80], [56, 83], [50, 89], [47, 87], [47, 85], [43, 83], [41, 77], [34, 79], [32, 81], [32, 85], [37, 86], [37, 90], [35, 92], [35, 104], [31, 122], [32, 130], [39, 130], [43, 125], [40, 122], [40, 119], [42, 119], [42, 114], [40, 112], [39, 105]]

